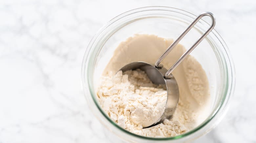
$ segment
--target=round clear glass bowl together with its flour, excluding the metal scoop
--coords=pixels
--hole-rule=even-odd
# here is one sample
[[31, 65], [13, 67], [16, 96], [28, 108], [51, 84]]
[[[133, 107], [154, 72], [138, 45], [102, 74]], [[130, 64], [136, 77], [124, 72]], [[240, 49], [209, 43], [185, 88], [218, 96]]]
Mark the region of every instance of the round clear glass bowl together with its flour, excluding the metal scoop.
[[[125, 12], [103, 26], [90, 42], [82, 65], [87, 103], [117, 138], [130, 142], [184, 142], [209, 132], [223, 118], [234, 89], [234, 67], [219, 34], [212, 32], [172, 72], [179, 103], [163, 114], [167, 91], [140, 70], [118, 71], [131, 62], [155, 63], [196, 15], [168, 7]], [[161, 62], [171, 67], [209, 24], [200, 20]]]

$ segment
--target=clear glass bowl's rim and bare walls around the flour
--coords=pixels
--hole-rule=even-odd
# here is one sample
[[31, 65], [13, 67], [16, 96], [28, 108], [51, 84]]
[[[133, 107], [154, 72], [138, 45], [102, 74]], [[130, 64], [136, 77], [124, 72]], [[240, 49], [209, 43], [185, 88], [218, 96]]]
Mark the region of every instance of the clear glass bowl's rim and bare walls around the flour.
[[[203, 66], [210, 85], [211, 112], [202, 123], [182, 135], [153, 138], [126, 131], [113, 122], [101, 109], [96, 95], [96, 85], [102, 71], [121, 41], [135, 34], [155, 34], [163, 38], [176, 39], [197, 16], [177, 8], [145, 7], [122, 13], [105, 24], [91, 40], [82, 63], [82, 83], [84, 94], [91, 111], [111, 132], [113, 138], [119, 136], [129, 142], [184, 142], [192, 141], [208, 133], [224, 117], [235, 86], [235, 71], [228, 48], [217, 33], [210, 34], [191, 53]], [[217, 21], [218, 23], [218, 21]], [[218, 24], [217, 24], [218, 25]], [[181, 40], [189, 48], [209, 27], [200, 20]], [[141, 53], [143, 54], [143, 53]]]

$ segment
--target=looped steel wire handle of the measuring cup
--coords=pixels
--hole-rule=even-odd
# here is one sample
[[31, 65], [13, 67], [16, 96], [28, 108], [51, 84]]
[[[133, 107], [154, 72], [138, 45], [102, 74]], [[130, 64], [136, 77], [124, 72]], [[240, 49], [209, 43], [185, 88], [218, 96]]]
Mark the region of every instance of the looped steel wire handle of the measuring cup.
[[170, 46], [169, 48], [164, 52], [164, 54], [156, 61], [155, 63], [155, 67], [159, 67], [161, 68], [162, 66], [160, 65], [160, 62], [169, 54], [169, 52], [171, 52], [171, 50], [179, 43], [179, 41], [188, 33], [188, 31], [204, 16], [210, 16], [212, 19], [212, 24], [210, 26], [210, 28], [203, 34], [202, 37], [199, 38], [199, 40], [197, 40], [194, 45], [189, 48], [181, 57], [180, 59], [168, 70], [166, 71], [164, 77], [165, 78], [170, 78], [169, 75], [172, 73], [172, 71], [183, 61], [183, 59], [189, 55], [189, 53], [191, 53], [195, 47], [212, 31], [212, 29], [215, 26], [215, 17], [212, 13], [210, 12], [204, 12], [202, 14], [200, 14], [195, 21], [190, 24], [188, 26], [188, 28], [179, 36], [178, 39], [176, 39]]

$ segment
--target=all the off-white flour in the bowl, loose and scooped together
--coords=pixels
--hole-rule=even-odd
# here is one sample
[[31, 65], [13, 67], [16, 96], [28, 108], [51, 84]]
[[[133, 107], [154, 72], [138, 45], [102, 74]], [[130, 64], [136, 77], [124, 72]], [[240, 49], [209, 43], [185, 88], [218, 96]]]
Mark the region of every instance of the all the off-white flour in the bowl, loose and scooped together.
[[[101, 77], [97, 95], [103, 110], [122, 128], [143, 136], [168, 137], [183, 134], [207, 118], [210, 107], [207, 76], [200, 63], [188, 56], [172, 72], [180, 92], [173, 118], [142, 129], [160, 118], [167, 92], [163, 85], [153, 84], [143, 71], [118, 70], [135, 61], [154, 63], [172, 42], [154, 35], [136, 35], [121, 42], [114, 52]], [[185, 48], [179, 44], [161, 64], [171, 67], [184, 52]]]

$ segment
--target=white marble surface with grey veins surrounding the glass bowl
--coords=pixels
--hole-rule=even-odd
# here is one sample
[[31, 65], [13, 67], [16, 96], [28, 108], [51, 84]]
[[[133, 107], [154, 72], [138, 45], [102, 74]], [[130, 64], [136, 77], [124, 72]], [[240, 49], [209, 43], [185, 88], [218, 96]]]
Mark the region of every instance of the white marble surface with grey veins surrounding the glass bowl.
[[145, 6], [215, 14], [236, 90], [222, 122], [195, 142], [255, 143], [255, 0], [1, 0], [0, 143], [110, 143], [81, 90], [83, 54], [104, 23]]

